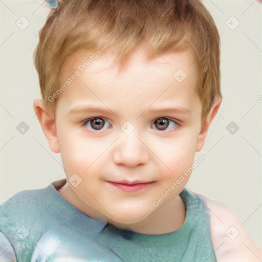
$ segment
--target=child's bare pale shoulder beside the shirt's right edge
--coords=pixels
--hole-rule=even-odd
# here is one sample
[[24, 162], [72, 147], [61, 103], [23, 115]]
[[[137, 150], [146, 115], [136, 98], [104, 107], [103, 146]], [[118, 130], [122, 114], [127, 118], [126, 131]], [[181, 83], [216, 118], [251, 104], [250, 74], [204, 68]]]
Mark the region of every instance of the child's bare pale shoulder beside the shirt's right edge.
[[262, 251], [255, 245], [236, 214], [221, 202], [199, 196], [209, 211], [217, 262], [261, 261]]

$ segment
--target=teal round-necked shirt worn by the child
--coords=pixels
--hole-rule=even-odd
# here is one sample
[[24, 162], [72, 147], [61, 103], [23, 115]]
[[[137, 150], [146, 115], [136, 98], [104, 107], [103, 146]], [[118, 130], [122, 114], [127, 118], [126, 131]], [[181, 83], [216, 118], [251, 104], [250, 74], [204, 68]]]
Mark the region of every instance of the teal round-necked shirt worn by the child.
[[0, 207], [1, 262], [216, 261], [203, 200], [184, 189], [182, 227], [146, 235], [92, 219], [58, 193], [65, 179], [15, 194]]

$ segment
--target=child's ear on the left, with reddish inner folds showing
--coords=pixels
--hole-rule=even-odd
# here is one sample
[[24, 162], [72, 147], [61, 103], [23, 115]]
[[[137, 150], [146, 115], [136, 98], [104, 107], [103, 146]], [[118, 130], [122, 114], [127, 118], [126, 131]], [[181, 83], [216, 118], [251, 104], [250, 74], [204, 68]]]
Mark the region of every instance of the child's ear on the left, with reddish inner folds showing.
[[54, 153], [59, 153], [60, 147], [56, 133], [54, 114], [46, 109], [45, 102], [42, 99], [35, 99], [33, 101], [33, 106], [37, 119], [43, 130], [43, 134], [45, 134], [47, 138], [50, 149]]

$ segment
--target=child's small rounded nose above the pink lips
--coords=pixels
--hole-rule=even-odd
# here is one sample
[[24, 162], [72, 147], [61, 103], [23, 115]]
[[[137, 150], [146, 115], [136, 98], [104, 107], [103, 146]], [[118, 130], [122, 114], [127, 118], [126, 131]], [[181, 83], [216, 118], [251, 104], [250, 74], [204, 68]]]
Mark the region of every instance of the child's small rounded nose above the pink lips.
[[121, 134], [115, 144], [113, 159], [115, 164], [135, 167], [146, 164], [149, 159], [149, 149], [138, 138], [137, 134]]

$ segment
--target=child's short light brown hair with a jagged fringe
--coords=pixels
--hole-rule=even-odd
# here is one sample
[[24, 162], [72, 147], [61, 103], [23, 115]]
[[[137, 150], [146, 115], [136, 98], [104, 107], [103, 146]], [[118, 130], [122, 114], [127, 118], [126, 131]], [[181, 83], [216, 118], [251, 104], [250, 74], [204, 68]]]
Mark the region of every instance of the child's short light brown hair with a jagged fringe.
[[200, 0], [63, 0], [39, 31], [34, 53], [43, 100], [59, 86], [64, 61], [81, 49], [111, 49], [122, 59], [146, 40], [158, 53], [189, 45], [199, 67], [202, 118], [220, 90], [220, 37]]

